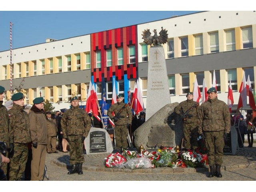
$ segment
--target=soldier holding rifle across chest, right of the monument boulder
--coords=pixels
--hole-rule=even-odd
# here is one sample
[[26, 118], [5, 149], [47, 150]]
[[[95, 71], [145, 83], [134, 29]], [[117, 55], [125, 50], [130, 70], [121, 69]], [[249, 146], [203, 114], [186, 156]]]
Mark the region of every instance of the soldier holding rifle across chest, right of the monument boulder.
[[[193, 101], [193, 93], [189, 92], [186, 101], [182, 101], [174, 108], [174, 112], [183, 120], [184, 147], [186, 149], [196, 149], [198, 147], [198, 126], [197, 118], [199, 112], [199, 103]], [[192, 106], [195, 106], [190, 112], [184, 116], [183, 114]]]

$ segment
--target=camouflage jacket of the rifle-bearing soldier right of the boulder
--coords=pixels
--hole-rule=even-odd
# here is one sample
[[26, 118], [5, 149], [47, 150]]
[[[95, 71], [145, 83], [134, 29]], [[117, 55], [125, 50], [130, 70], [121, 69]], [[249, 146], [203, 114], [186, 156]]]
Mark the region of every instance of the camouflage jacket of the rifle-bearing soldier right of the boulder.
[[[193, 100], [182, 101], [174, 108], [174, 112], [178, 115], [180, 115], [180, 112], [184, 114], [194, 104], [198, 104], [198, 102], [195, 102]], [[198, 112], [199, 105], [197, 107], [193, 107], [192, 110], [188, 113], [188, 115], [185, 116], [184, 123], [188, 124], [197, 122]]]

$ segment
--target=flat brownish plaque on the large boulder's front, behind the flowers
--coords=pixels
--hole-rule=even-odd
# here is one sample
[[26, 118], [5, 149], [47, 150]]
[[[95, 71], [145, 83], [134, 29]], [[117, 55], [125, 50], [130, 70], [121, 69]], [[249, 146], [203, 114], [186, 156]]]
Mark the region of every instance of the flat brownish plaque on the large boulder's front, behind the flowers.
[[158, 147], [163, 145], [164, 147], [174, 147], [175, 144], [175, 132], [168, 125], [152, 127], [148, 136], [148, 147]]

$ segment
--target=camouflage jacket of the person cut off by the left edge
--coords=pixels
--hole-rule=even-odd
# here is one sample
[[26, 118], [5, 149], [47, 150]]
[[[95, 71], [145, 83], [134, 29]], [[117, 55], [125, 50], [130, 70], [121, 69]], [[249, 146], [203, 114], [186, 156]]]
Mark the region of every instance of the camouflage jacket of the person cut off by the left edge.
[[10, 147], [9, 126], [10, 124], [7, 109], [3, 105], [3, 101], [0, 101], [0, 141], [6, 142], [7, 148]]

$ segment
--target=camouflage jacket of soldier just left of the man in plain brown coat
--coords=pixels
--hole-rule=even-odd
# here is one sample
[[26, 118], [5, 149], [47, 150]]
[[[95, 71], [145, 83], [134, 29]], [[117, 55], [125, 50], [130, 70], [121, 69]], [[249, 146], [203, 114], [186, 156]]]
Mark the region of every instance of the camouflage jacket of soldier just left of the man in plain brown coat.
[[28, 114], [24, 106], [13, 104], [8, 111], [10, 115], [10, 140], [11, 143], [29, 143], [31, 142]]

